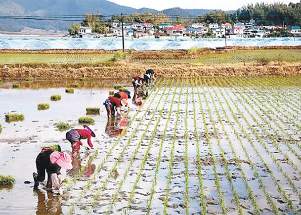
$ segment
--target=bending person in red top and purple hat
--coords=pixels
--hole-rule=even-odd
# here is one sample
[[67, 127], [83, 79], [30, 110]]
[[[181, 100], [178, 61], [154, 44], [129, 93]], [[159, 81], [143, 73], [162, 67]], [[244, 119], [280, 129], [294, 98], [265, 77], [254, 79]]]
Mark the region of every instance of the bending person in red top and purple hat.
[[[66, 133], [66, 138], [72, 145], [72, 153], [77, 153], [80, 151], [81, 139], [87, 139], [88, 145], [93, 148], [93, 144], [91, 142], [91, 136], [95, 137], [95, 133], [86, 125], [84, 125], [84, 129], [71, 129]], [[88, 150], [89, 148], [86, 147]]]

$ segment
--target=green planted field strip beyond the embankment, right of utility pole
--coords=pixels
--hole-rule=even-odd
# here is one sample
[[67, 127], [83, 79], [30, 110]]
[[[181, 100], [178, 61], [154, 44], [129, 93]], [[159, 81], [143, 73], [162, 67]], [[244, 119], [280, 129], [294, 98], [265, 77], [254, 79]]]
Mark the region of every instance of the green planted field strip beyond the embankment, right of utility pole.
[[[143, 57], [143, 56], [142, 56]], [[174, 58], [174, 59], [173, 59]], [[228, 53], [204, 54], [194, 59], [179, 59], [178, 56], [160, 57], [157, 59], [144, 59], [136, 57], [134, 63], [158, 63], [158, 64], [196, 64], [215, 65], [232, 63], [269, 63], [272, 61], [300, 62], [301, 52], [299, 49], [269, 49], [269, 50], [236, 50]]]

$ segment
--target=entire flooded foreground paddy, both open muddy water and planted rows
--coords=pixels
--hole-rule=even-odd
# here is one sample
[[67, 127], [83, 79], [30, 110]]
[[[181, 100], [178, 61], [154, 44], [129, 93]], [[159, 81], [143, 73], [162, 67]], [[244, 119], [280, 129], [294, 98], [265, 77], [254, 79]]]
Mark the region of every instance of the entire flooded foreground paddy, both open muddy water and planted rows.
[[[4, 84], [0, 173], [16, 183], [0, 189], [0, 214], [300, 214], [300, 78], [159, 80], [142, 107], [129, 102], [127, 118], [109, 121], [102, 103], [114, 84], [74, 94], [69, 82]], [[81, 127], [86, 107], [101, 110], [91, 115], [95, 148], [62, 171], [63, 195], [34, 191], [24, 182], [41, 146], [71, 151], [55, 124]], [[6, 113], [25, 120], [6, 123]]]

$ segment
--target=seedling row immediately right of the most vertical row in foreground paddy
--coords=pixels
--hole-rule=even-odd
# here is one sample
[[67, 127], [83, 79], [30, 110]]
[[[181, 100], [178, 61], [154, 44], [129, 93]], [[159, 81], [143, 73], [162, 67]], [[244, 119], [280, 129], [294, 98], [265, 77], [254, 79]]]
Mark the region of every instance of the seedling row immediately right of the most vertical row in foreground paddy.
[[194, 135], [196, 138], [196, 148], [197, 148], [197, 171], [198, 171], [198, 178], [199, 178], [199, 189], [200, 189], [200, 205], [202, 208], [202, 215], [206, 215], [206, 202], [205, 202], [205, 192], [203, 186], [203, 175], [202, 175], [202, 160], [200, 155], [200, 142], [199, 142], [199, 134], [198, 134], [198, 127], [197, 127], [197, 116], [196, 116], [196, 107], [195, 107], [195, 100], [194, 100], [194, 83], [192, 82], [192, 104], [193, 104], [193, 124], [194, 124]]

